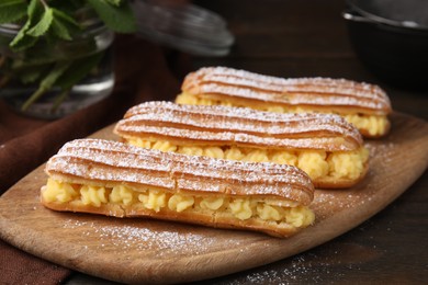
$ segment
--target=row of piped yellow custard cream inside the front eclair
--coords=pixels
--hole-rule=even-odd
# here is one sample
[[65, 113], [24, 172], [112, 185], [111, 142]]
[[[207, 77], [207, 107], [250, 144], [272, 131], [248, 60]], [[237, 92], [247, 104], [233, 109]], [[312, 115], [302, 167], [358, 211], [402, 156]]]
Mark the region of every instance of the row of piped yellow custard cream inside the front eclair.
[[299, 206], [294, 202], [225, 195], [193, 196], [150, 187], [142, 192], [125, 185], [108, 189], [69, 184], [54, 179], [48, 179], [42, 195], [47, 203], [76, 203], [94, 207], [113, 204], [151, 209], [156, 213], [169, 209], [179, 213], [222, 214], [240, 220], [257, 218], [277, 224], [285, 223], [294, 227], [306, 227], [315, 219], [314, 213], [308, 207]]

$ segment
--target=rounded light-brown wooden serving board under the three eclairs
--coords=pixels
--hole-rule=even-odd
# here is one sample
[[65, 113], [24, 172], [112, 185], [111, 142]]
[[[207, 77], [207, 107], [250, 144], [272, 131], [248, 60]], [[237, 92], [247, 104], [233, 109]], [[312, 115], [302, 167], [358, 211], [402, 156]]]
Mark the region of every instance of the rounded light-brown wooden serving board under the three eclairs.
[[[124, 283], [180, 283], [267, 264], [358, 226], [401, 195], [428, 166], [428, 123], [393, 114], [392, 132], [367, 145], [370, 172], [357, 186], [317, 191], [316, 224], [289, 239], [149, 219], [57, 213], [40, 204], [43, 167], [0, 197], [0, 235], [32, 254]], [[94, 137], [115, 139], [112, 127]]]

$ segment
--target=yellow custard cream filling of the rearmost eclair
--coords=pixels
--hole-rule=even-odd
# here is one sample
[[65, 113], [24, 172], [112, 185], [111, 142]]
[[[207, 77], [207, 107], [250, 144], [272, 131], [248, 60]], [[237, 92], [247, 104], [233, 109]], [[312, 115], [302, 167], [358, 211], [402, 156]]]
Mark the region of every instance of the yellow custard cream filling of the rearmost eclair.
[[[189, 93], [181, 93], [177, 96], [176, 103], [178, 104], [189, 104], [189, 105], [225, 105], [225, 106], [238, 106], [245, 107], [244, 105], [238, 105], [234, 102], [226, 100], [212, 100], [212, 99], [202, 99]], [[263, 104], [255, 104], [251, 107], [259, 111], [274, 112], [274, 113], [305, 113], [311, 112], [302, 107], [292, 107], [292, 106], [267, 106]], [[388, 124], [386, 116], [376, 116], [376, 115], [359, 115], [350, 114], [343, 115], [345, 119], [348, 123], [353, 124], [358, 129], [367, 129], [371, 136], [382, 135]]]

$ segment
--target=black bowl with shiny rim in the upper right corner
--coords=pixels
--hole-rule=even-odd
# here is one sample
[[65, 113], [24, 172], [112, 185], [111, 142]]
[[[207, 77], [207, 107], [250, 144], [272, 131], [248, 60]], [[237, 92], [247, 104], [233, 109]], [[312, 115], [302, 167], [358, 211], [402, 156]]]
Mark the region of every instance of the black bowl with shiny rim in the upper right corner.
[[[397, 5], [390, 5], [382, 10], [378, 2], [408, 7], [399, 10]], [[428, 10], [425, 8], [428, 9], [428, 1], [419, 0], [420, 7], [412, 8], [416, 2], [348, 0], [349, 8], [342, 16], [357, 56], [374, 76], [394, 87], [427, 91], [428, 12], [425, 15], [425, 11]]]

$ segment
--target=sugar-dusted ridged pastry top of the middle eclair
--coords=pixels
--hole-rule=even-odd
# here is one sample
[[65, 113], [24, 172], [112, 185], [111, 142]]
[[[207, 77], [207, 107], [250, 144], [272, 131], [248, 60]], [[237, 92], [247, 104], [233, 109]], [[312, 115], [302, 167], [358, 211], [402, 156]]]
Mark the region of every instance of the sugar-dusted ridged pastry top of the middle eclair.
[[279, 114], [219, 105], [147, 102], [128, 110], [115, 126], [121, 136], [161, 136], [201, 142], [269, 148], [353, 150], [360, 133], [334, 114]]

